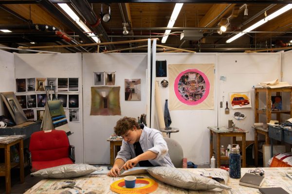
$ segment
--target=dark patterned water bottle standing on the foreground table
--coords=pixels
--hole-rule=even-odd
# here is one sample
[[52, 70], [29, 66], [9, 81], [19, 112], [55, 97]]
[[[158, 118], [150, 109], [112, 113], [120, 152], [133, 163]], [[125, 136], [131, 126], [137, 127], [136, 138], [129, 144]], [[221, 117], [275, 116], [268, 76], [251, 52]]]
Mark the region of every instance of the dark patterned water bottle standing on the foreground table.
[[230, 178], [240, 178], [241, 177], [241, 161], [239, 148], [231, 146], [231, 151], [229, 155], [229, 176]]

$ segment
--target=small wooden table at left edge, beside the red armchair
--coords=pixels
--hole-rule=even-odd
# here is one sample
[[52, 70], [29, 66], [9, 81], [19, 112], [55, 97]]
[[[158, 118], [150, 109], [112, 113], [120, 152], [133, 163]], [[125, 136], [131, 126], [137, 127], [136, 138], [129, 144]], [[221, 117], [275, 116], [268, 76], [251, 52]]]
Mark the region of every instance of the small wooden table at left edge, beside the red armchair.
[[[11, 192], [11, 177], [10, 170], [11, 168], [18, 166], [20, 168], [20, 182], [24, 182], [24, 165], [23, 165], [23, 138], [25, 135], [10, 135], [10, 136], [2, 136], [7, 137], [4, 140], [0, 140], [0, 148], [4, 148], [5, 155], [5, 163], [0, 163], [0, 176], [5, 177], [5, 187], [6, 194], [10, 194]], [[11, 163], [10, 162], [10, 147], [13, 145], [19, 145], [19, 163]]]

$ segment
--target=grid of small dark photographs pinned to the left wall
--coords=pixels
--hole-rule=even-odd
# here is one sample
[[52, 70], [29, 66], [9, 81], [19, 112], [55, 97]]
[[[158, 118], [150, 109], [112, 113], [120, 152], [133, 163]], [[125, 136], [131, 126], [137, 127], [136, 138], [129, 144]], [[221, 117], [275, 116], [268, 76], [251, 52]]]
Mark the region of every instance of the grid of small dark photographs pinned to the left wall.
[[[45, 86], [55, 87], [57, 97], [52, 91], [49, 92], [49, 97], [53, 100], [61, 100], [63, 108], [69, 109], [70, 119], [68, 120], [70, 122], [80, 122], [79, 94], [74, 94], [79, 92], [79, 78], [16, 79], [17, 99], [27, 119], [31, 121], [43, 119], [46, 102], [49, 100], [45, 93]], [[70, 94], [72, 92], [74, 93]]]

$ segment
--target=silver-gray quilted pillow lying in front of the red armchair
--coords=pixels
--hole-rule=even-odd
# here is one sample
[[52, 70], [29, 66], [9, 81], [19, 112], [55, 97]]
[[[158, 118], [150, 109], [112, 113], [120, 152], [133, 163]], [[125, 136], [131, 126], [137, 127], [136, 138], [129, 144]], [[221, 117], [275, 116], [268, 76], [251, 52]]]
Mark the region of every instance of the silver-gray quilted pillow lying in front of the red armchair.
[[88, 175], [96, 170], [95, 166], [89, 164], [66, 164], [41, 169], [31, 175], [42, 178], [75, 178]]

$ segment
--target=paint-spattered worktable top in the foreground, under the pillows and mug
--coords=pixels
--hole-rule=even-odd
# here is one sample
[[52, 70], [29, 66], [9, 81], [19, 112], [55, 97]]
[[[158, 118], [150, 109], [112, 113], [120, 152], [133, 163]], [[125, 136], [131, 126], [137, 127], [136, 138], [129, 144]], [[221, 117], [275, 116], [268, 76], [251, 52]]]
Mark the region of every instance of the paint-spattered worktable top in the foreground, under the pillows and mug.
[[[241, 168], [241, 177], [248, 172], [250, 169], [255, 168]], [[292, 172], [292, 168], [262, 168], [265, 172], [265, 180], [262, 187], [282, 187], [288, 193], [292, 194], [291, 179], [288, 178], [285, 173]], [[186, 168], [187, 170], [196, 174], [201, 174], [200, 171], [214, 170], [212, 168]], [[219, 169], [216, 169], [219, 170]], [[143, 176], [144, 178], [152, 178], [149, 174], [136, 175]], [[82, 190], [77, 190], [80, 194], [92, 193], [92, 194], [116, 194], [110, 191], [110, 184], [117, 181], [123, 177], [112, 178], [107, 175], [87, 175], [80, 178], [70, 178], [70, 179], [42, 179], [32, 188], [25, 192], [25, 194], [60, 194], [67, 189], [62, 189], [61, 187], [68, 184], [65, 181], [76, 182], [75, 185], [81, 187]], [[152, 178], [154, 179], [154, 178]], [[152, 194], [231, 194], [227, 190], [221, 192], [214, 191], [192, 191], [186, 190], [174, 186], [170, 186], [161, 181], [155, 179], [158, 183], [158, 188]], [[228, 178], [227, 185], [232, 187], [232, 194], [259, 194], [258, 189], [253, 187], [246, 187], [239, 185], [239, 178]]]

